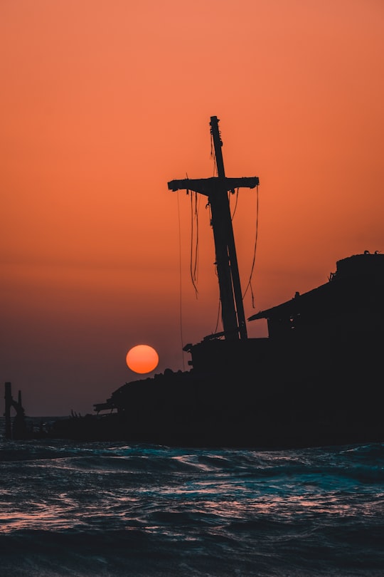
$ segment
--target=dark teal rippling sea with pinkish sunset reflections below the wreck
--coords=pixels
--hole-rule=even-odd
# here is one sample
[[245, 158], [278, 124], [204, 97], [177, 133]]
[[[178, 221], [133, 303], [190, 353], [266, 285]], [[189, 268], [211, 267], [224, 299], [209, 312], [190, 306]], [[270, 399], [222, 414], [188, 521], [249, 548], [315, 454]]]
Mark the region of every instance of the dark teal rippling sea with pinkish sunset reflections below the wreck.
[[384, 443], [193, 449], [1, 432], [0, 577], [384, 576]]

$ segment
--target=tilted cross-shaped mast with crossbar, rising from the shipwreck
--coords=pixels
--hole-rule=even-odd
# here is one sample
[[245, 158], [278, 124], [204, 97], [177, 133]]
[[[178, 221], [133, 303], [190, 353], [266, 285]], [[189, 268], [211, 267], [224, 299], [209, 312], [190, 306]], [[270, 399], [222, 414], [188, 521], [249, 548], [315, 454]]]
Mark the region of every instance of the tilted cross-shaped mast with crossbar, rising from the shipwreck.
[[206, 179], [171, 180], [169, 190], [193, 190], [208, 197], [212, 214], [213, 239], [215, 241], [216, 267], [221, 301], [221, 317], [225, 339], [246, 339], [247, 327], [242, 304], [242, 291], [236, 256], [235, 238], [233, 236], [232, 218], [228, 192], [236, 188], [255, 188], [258, 177], [227, 178], [225, 177], [223, 142], [218, 128], [217, 116], [210, 117], [210, 133], [215, 148], [218, 176]]

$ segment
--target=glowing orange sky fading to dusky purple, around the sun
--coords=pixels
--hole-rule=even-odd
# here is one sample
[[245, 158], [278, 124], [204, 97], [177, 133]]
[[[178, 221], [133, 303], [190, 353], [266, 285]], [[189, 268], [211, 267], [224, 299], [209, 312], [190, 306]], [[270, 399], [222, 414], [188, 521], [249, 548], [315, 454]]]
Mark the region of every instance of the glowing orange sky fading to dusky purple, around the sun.
[[[212, 115], [226, 175], [260, 178], [246, 317], [384, 251], [382, 0], [2, 0], [0, 44], [0, 373], [28, 415], [92, 412], [133, 345], [178, 370], [215, 331], [206, 199], [196, 298], [167, 187], [213, 176]], [[243, 287], [255, 210], [240, 189]]]

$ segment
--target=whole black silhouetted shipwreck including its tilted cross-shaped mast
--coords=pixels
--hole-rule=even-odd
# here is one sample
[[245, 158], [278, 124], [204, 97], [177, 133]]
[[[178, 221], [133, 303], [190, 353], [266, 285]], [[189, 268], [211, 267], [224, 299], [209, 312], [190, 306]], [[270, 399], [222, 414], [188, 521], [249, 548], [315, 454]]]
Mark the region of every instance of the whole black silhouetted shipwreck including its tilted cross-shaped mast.
[[51, 434], [272, 449], [384, 441], [384, 255], [339, 260], [326, 284], [248, 318], [267, 319], [269, 334], [248, 338], [229, 194], [259, 179], [225, 177], [215, 116], [210, 130], [218, 176], [168, 186], [208, 197], [223, 332], [186, 345], [191, 370], [126, 383]]

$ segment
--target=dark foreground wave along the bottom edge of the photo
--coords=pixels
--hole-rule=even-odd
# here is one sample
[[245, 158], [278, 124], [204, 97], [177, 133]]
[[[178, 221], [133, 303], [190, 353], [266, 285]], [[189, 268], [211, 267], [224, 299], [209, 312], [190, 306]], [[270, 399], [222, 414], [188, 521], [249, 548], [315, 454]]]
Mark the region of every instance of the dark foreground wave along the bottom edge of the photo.
[[[186, 520], [184, 519], [184, 522]], [[375, 541], [361, 547], [360, 529], [316, 533], [270, 521], [232, 526], [232, 534], [202, 529], [164, 531], [17, 531], [0, 535], [1, 567], [13, 577], [381, 577]], [[357, 536], [357, 538], [356, 538]], [[18, 564], [15, 566], [15, 556]]]

